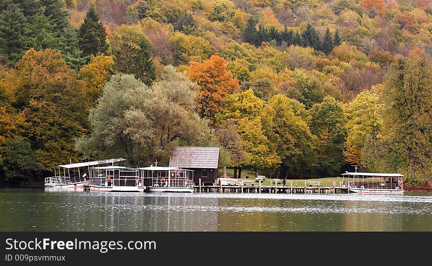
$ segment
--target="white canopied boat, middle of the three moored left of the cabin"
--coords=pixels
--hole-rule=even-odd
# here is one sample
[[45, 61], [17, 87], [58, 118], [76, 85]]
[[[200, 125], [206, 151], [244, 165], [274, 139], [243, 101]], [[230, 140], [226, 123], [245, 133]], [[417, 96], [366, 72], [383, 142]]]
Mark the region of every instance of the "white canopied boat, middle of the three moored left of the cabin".
[[84, 184], [84, 190], [99, 192], [144, 192], [144, 189], [138, 169], [123, 166], [92, 167]]

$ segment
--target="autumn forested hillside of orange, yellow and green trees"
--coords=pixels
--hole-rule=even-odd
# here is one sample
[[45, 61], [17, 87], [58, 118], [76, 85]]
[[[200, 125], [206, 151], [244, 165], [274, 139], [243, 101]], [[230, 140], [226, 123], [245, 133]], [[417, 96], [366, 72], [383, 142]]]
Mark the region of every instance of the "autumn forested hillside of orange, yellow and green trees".
[[177, 145], [284, 177], [432, 174], [429, 0], [0, 0], [0, 178]]

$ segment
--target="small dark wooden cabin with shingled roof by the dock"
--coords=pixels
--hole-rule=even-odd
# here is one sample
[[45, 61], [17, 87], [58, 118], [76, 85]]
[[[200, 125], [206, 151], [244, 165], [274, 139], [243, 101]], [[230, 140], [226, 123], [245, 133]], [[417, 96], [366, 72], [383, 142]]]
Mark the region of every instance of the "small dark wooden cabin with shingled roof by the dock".
[[174, 147], [169, 157], [169, 167], [193, 170], [194, 184], [216, 183], [219, 168], [219, 147]]

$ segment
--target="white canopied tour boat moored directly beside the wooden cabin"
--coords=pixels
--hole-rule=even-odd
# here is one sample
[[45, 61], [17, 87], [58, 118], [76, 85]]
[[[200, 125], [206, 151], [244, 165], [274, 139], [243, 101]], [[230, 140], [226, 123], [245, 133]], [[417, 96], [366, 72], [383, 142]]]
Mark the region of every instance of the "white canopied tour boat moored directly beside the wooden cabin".
[[138, 168], [146, 192], [193, 192], [193, 171], [177, 167]]

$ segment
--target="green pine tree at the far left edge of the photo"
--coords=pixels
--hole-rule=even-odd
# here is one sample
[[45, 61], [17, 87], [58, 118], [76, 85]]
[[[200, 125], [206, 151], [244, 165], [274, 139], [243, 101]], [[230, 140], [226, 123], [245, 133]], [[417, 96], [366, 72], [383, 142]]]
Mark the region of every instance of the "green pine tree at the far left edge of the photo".
[[10, 66], [31, 46], [30, 25], [21, 9], [10, 4], [0, 13], [0, 57]]

